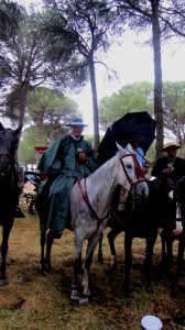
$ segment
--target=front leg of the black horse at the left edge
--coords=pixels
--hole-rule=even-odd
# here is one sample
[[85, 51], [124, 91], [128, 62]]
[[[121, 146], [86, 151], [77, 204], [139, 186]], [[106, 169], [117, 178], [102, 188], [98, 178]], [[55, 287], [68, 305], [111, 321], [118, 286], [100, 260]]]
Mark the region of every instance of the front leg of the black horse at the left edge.
[[10, 237], [10, 232], [11, 229], [13, 227], [13, 219], [11, 221], [9, 221], [9, 226], [3, 226], [2, 227], [2, 244], [1, 244], [1, 275], [0, 275], [0, 285], [6, 285], [8, 283], [8, 278], [7, 278], [7, 273], [6, 273], [6, 268], [7, 268], [7, 253], [8, 253], [8, 242], [9, 242], [9, 237]]

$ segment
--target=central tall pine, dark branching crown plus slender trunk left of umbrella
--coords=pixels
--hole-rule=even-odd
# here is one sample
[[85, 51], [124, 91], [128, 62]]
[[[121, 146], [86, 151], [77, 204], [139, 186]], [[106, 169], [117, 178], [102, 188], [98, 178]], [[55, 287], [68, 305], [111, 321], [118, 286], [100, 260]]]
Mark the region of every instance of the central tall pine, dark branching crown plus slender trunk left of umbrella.
[[[94, 144], [98, 145], [99, 111], [95, 64], [104, 63], [100, 51], [108, 51], [111, 33], [120, 30], [116, 22], [117, 15], [108, 10], [106, 0], [45, 0], [45, 6], [47, 11], [44, 29], [48, 35], [53, 35], [53, 46], [56, 50], [52, 57], [58, 58], [61, 40], [68, 40], [72, 54], [77, 54], [80, 59], [78, 66], [86, 68], [89, 74], [94, 109]], [[57, 48], [55, 44], [58, 45]]]

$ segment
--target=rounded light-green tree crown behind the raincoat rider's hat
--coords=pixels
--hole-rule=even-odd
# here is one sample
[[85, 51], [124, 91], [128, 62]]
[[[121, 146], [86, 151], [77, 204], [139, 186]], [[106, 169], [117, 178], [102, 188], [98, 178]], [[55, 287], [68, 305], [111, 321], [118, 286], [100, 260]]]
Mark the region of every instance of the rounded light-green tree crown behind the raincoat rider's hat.
[[64, 135], [65, 123], [72, 117], [79, 117], [77, 105], [64, 94], [45, 87], [39, 87], [30, 94], [28, 111], [37, 127], [37, 143], [42, 145], [43, 132], [47, 132], [51, 145], [59, 135]]

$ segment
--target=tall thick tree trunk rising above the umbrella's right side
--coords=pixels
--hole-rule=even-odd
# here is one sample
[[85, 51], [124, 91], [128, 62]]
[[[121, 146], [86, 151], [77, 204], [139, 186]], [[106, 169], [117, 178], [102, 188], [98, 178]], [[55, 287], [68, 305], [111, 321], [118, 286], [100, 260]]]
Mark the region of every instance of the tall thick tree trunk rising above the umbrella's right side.
[[161, 155], [164, 139], [163, 110], [162, 110], [162, 65], [161, 65], [161, 32], [159, 22], [160, 0], [150, 0], [152, 7], [152, 35], [154, 61], [154, 117], [156, 120], [155, 158]]

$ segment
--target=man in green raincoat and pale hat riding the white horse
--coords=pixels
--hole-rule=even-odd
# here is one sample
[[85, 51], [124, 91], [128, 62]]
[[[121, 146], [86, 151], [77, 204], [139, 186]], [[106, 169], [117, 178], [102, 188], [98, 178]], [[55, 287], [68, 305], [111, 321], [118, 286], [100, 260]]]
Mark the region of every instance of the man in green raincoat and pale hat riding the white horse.
[[83, 120], [75, 118], [67, 127], [70, 134], [55, 141], [37, 166], [48, 179], [39, 194], [36, 208], [40, 218], [47, 217], [46, 228], [53, 230], [53, 238], [61, 238], [66, 227], [75, 182], [87, 177], [99, 166], [91, 144], [81, 135], [87, 127]]

